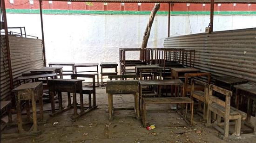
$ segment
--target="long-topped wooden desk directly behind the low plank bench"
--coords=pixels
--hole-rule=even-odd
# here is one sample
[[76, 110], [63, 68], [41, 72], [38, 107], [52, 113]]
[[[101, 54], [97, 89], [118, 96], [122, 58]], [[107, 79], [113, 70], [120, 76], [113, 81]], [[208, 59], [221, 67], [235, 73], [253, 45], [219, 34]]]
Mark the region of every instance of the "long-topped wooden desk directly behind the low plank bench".
[[184, 85], [184, 83], [177, 79], [177, 80], [139, 80], [139, 103], [140, 103], [140, 111], [142, 108], [142, 86], [158, 86], [158, 97], [161, 95], [161, 87], [162, 86], [172, 86], [177, 85], [181, 86]]

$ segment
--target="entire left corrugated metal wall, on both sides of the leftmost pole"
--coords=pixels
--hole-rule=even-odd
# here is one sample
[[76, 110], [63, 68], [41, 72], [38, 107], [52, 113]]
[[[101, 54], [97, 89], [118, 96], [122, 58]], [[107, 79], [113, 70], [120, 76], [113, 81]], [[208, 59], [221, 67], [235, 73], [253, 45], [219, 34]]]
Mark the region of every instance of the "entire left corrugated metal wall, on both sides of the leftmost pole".
[[[42, 40], [9, 36], [10, 53], [13, 69], [13, 86], [24, 72], [43, 67]], [[10, 95], [10, 81], [7, 63], [5, 37], [1, 36], [1, 100]]]

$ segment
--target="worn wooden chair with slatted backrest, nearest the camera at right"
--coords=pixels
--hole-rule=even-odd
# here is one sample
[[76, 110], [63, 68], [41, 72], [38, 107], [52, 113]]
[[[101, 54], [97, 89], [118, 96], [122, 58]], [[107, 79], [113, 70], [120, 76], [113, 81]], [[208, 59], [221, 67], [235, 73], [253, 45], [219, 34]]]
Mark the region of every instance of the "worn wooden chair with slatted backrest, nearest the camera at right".
[[[221, 93], [225, 96], [225, 101], [222, 101], [216, 96], [213, 96], [213, 91]], [[216, 130], [220, 131], [223, 139], [228, 137], [240, 136], [241, 130], [241, 120], [246, 118], [244, 112], [230, 106], [230, 99], [232, 96], [232, 91], [217, 87], [215, 85], [209, 85], [209, 104], [207, 112], [207, 124], [206, 126], [211, 126], [211, 112], [217, 114], [217, 120], [212, 126]], [[224, 118], [224, 122], [221, 123], [221, 118]], [[229, 136], [229, 120], [235, 120], [235, 132], [231, 133]], [[223, 126], [224, 129], [221, 128]]]

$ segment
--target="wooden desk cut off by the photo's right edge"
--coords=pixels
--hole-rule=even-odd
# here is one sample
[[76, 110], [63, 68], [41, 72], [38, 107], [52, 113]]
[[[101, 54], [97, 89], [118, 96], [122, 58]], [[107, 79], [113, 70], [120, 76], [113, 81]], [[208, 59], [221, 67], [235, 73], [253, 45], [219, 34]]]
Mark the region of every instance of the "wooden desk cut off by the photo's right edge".
[[254, 135], [256, 136], [256, 123], [251, 125], [251, 112], [253, 108], [253, 100], [256, 100], [256, 83], [255, 82], [248, 82], [240, 85], [235, 85], [236, 88], [236, 108], [239, 109], [239, 100], [241, 96], [245, 96], [248, 98], [247, 104], [247, 117], [246, 123], [247, 125], [254, 127]]

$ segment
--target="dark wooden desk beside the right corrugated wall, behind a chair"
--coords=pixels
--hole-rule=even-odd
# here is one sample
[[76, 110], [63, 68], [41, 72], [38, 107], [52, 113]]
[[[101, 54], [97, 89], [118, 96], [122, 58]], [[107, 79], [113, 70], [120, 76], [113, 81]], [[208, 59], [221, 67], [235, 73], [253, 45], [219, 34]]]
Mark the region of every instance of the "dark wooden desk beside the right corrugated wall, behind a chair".
[[[196, 68], [171, 68], [171, 78], [179, 79], [179, 77], [184, 77], [186, 73], [197, 73], [199, 69]], [[175, 97], [177, 97], [178, 86], [175, 86]], [[173, 86], [172, 86], [172, 96], [173, 96]]]

